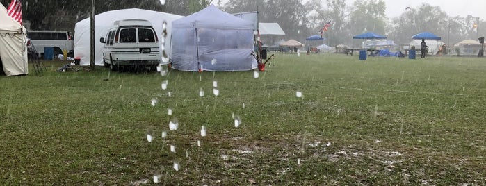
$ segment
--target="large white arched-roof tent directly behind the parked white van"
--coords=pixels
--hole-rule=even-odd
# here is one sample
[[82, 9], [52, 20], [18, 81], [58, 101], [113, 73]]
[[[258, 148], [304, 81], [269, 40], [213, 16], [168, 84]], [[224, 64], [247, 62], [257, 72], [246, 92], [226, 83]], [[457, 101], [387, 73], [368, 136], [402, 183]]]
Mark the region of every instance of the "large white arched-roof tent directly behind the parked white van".
[[[106, 37], [110, 28], [114, 27], [114, 22], [122, 19], [145, 19], [152, 23], [159, 41], [163, 37], [163, 22], [167, 22], [167, 38], [165, 38], [165, 52], [170, 54], [170, 31], [172, 21], [183, 16], [173, 15], [152, 10], [142, 10], [137, 8], [113, 10], [95, 15], [95, 65], [103, 65], [103, 46], [99, 38]], [[80, 65], [90, 65], [90, 18], [76, 23], [74, 28], [74, 57], [81, 58]], [[159, 42], [161, 44], [161, 42]], [[162, 51], [162, 49], [161, 49]], [[162, 56], [162, 55], [161, 55]]]

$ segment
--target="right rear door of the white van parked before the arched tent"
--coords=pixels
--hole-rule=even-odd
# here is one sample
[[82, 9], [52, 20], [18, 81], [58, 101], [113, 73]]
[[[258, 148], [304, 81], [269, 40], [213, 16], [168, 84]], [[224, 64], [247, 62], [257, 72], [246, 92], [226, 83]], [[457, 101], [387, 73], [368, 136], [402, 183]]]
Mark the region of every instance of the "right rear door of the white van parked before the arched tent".
[[152, 62], [158, 60], [158, 42], [153, 28], [138, 28], [138, 60]]

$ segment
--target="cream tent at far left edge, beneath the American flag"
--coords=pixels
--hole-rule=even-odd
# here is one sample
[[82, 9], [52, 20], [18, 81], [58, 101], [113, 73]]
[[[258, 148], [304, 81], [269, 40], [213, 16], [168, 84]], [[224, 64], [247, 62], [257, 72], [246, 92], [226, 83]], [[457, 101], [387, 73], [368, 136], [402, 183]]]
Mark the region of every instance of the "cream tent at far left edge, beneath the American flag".
[[29, 74], [25, 28], [0, 3], [0, 60], [7, 76]]

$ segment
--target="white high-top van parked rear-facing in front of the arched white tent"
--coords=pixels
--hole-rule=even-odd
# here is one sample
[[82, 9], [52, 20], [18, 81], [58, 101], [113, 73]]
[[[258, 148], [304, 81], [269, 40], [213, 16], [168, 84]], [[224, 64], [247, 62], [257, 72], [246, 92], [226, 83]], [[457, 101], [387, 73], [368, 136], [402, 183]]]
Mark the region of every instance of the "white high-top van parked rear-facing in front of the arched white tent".
[[147, 20], [116, 21], [105, 38], [99, 39], [104, 43], [104, 67], [115, 70], [120, 66], [156, 67], [160, 63], [159, 39]]

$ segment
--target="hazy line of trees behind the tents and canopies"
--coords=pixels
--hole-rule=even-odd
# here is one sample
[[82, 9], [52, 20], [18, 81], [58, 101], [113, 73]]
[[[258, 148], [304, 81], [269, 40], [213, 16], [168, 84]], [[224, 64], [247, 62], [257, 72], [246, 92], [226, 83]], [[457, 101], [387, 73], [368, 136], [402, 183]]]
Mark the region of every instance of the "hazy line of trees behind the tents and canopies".
[[[0, 0], [8, 6], [11, 0]], [[285, 31], [285, 36], [264, 38], [269, 45], [277, 40], [295, 39], [318, 33], [323, 24], [331, 21], [324, 37], [327, 44], [353, 44], [353, 35], [371, 31], [387, 35], [397, 44], [410, 42], [416, 33], [428, 31], [442, 36], [446, 44], [454, 44], [464, 39], [477, 40], [486, 33], [483, 19], [468, 15], [451, 17], [439, 6], [423, 3], [416, 7], [403, 8], [398, 17], [385, 15], [386, 4], [382, 0], [356, 0], [347, 6], [346, 0], [227, 0], [216, 3], [220, 9], [230, 12], [259, 12], [260, 22], [277, 22]], [[191, 15], [213, 3], [213, 0], [105, 0], [95, 2], [95, 12], [123, 8], [141, 8], [168, 12], [176, 15]], [[24, 19], [31, 22], [33, 29], [74, 30], [74, 24], [90, 16], [91, 1], [74, 0], [23, 0]], [[473, 25], [478, 25], [479, 28]]]

